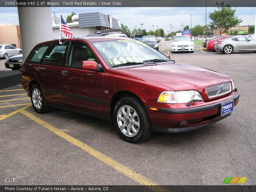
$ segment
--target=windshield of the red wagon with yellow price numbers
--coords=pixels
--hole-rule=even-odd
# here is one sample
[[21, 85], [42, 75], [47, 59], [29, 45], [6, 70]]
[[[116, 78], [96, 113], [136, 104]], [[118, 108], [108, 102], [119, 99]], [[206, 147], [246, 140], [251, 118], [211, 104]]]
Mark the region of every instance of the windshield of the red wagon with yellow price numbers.
[[94, 42], [93, 45], [110, 67], [124, 63], [143, 63], [145, 60], [169, 60], [149, 45], [137, 40]]

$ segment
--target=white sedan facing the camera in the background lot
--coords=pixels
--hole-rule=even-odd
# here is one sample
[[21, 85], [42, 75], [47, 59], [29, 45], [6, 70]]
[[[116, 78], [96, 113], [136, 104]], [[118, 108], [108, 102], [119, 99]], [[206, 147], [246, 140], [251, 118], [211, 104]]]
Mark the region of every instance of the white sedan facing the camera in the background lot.
[[173, 52], [194, 52], [194, 42], [189, 36], [175, 36], [172, 41], [172, 53]]

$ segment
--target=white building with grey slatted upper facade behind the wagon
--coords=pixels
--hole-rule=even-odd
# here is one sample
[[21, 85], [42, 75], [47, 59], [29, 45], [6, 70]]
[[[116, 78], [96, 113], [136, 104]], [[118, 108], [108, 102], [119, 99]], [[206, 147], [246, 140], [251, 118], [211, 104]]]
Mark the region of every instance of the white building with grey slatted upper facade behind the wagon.
[[[72, 17], [73, 22], [67, 23], [68, 27], [72, 31], [75, 37], [84, 37], [88, 34], [93, 34], [96, 30], [108, 30], [108, 29], [121, 29], [121, 23], [119, 20], [112, 18], [111, 15], [104, 15], [100, 12], [96, 13], [82, 13], [74, 15]], [[60, 23], [59, 18], [52, 19], [53, 37], [59, 38]], [[62, 37], [64, 33], [61, 32]]]

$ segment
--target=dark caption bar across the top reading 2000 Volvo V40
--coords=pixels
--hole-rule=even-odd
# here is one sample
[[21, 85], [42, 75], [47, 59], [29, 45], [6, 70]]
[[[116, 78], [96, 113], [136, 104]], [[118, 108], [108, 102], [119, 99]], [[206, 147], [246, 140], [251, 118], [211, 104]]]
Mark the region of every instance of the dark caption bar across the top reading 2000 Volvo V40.
[[255, 0], [1, 0], [1, 7], [256, 7]]

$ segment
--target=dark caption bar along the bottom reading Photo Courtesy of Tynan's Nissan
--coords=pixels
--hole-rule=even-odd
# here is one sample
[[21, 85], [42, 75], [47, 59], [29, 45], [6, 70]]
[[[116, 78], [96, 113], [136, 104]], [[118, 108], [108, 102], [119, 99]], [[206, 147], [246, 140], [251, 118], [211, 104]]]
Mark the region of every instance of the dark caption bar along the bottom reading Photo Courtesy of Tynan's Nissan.
[[141, 186], [141, 185], [5, 185], [0, 186], [1, 192], [254, 192], [256, 186], [225, 184], [225, 185], [164, 185], [164, 186]]

